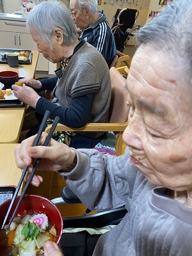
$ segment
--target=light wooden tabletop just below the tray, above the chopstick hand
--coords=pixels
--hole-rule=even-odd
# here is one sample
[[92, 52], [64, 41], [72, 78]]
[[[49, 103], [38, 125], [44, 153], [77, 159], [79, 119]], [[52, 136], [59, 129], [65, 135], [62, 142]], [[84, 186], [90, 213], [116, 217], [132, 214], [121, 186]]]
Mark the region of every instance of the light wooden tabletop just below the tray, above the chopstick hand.
[[[0, 108], [0, 145], [18, 143], [24, 121], [25, 108]], [[5, 155], [6, 156], [6, 155]], [[4, 160], [9, 161], [9, 154]], [[1, 154], [1, 161], [3, 157]], [[0, 173], [3, 169], [0, 169]]]

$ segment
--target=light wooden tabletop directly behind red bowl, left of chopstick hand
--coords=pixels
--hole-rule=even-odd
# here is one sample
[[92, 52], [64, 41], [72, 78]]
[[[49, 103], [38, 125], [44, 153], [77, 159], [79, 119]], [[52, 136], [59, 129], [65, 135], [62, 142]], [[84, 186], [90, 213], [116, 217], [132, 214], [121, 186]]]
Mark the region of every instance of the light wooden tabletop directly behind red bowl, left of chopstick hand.
[[0, 144], [0, 186], [17, 186], [21, 170], [15, 164], [14, 148], [19, 144]]

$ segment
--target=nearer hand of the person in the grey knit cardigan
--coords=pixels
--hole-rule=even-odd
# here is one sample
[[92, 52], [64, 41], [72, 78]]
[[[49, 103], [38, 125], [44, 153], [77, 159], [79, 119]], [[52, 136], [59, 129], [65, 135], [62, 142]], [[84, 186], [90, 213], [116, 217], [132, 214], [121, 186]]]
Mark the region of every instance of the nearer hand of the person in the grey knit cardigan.
[[22, 102], [25, 102], [29, 106], [36, 108], [36, 102], [40, 99], [40, 95], [36, 93], [33, 88], [29, 86], [18, 86], [13, 84], [12, 85], [14, 95]]

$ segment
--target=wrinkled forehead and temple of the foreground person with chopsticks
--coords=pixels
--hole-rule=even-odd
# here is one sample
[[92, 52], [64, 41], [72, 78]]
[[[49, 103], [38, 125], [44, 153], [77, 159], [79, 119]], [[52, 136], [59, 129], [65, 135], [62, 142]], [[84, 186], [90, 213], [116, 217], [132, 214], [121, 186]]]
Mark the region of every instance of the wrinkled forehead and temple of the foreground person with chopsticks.
[[[150, 102], [164, 102], [188, 109], [192, 89], [183, 76], [178, 58], [152, 45], [140, 46], [134, 54], [127, 88], [133, 100], [144, 98]], [[136, 98], [136, 99], [135, 99]]]

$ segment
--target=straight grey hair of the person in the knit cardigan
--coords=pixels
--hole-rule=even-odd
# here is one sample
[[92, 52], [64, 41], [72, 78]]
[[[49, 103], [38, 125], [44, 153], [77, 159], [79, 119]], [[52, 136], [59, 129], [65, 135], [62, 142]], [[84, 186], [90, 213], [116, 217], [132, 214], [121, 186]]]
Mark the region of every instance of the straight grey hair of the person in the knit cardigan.
[[52, 33], [56, 28], [63, 31], [65, 45], [73, 44], [78, 35], [74, 20], [61, 1], [42, 1], [37, 4], [26, 20], [28, 29], [35, 29], [52, 49]]

